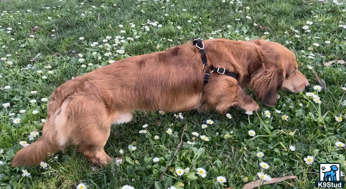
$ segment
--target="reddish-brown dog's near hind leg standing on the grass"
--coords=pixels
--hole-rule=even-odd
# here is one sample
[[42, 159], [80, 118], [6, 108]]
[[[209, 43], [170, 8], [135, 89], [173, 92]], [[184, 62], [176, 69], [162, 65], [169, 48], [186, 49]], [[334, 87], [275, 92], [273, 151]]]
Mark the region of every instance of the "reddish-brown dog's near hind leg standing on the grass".
[[103, 149], [110, 134], [111, 120], [103, 101], [97, 97], [78, 96], [69, 106], [73, 111], [68, 114], [69, 125], [73, 125], [70, 132], [72, 144], [93, 163], [106, 166], [112, 160]]

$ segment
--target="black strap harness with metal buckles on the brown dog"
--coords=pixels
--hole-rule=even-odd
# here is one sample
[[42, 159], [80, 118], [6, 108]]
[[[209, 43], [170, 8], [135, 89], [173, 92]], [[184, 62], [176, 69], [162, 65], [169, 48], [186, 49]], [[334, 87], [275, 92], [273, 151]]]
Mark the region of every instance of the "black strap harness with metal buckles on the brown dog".
[[[199, 38], [199, 37], [194, 38], [192, 40], [192, 45], [198, 49], [199, 53], [201, 53], [201, 58], [202, 58], [202, 62], [203, 62], [203, 70], [204, 70], [204, 67], [206, 65], [208, 65], [208, 60], [207, 60], [206, 52], [204, 51], [204, 44], [202, 43], [201, 38]], [[229, 71], [223, 67], [217, 67], [216, 68], [214, 66], [210, 66], [210, 69], [211, 69], [211, 71], [207, 70], [204, 73], [204, 85], [206, 85], [208, 83], [208, 81], [210, 80], [210, 74], [212, 72], [217, 72], [219, 74], [228, 75], [228, 76], [233, 77], [235, 79], [237, 79], [237, 77], [238, 77], [237, 73], [231, 72], [231, 71]]]

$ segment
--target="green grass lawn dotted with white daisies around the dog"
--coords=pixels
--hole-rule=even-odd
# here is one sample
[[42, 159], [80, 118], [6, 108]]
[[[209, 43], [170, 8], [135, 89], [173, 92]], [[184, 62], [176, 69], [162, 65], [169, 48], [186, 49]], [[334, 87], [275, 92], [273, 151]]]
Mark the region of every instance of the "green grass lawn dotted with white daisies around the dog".
[[[76, 188], [84, 183], [88, 188], [121, 188], [126, 184], [135, 188], [242, 188], [258, 179], [257, 172], [263, 171], [272, 178], [285, 175], [298, 178], [258, 188], [314, 188], [315, 181], [319, 180], [319, 163], [340, 162], [345, 172], [345, 147], [337, 147], [335, 143], [345, 142], [346, 137], [346, 90], [342, 89], [346, 84], [346, 69], [345, 64], [324, 65], [328, 61], [346, 59], [346, 30], [339, 26], [346, 24], [346, 3], [339, 1], [2, 1], [0, 10], [7, 12], [0, 17], [0, 57], [7, 60], [0, 62], [0, 99], [1, 104], [8, 102], [10, 106], [3, 105], [0, 110], [0, 149], [3, 150], [0, 187]], [[147, 20], [157, 23], [150, 25]], [[135, 26], [131, 27], [130, 23]], [[159, 24], [162, 27], [158, 28]], [[302, 29], [305, 25], [310, 32]], [[47, 169], [10, 167], [14, 154], [22, 148], [19, 142], [32, 143], [27, 137], [30, 132], [42, 130], [41, 119], [47, 115], [47, 101], [42, 98], [49, 99], [52, 91], [64, 81], [107, 65], [109, 61], [163, 51], [196, 36], [249, 40], [260, 38], [264, 32], [268, 32], [266, 39], [281, 43], [295, 53], [300, 70], [312, 86], [321, 84], [308, 65], [316, 70], [326, 88], [318, 93], [312, 88], [306, 92], [318, 94], [320, 105], [305, 93], [281, 91], [275, 107], [261, 105], [261, 111], [254, 115], [230, 109], [231, 119], [215, 112], [182, 112], [184, 119], [174, 117], [174, 113], [179, 112], [137, 112], [130, 123], [112, 126], [105, 146], [110, 156], [124, 158], [120, 166], [112, 164], [105, 169], [92, 169], [91, 162], [70, 147], [65, 155], [57, 153], [46, 160]], [[106, 36], [112, 38], [102, 42]], [[116, 42], [116, 36], [124, 37], [124, 41]], [[93, 47], [93, 42], [98, 44]], [[112, 54], [105, 56], [107, 52]], [[31, 94], [30, 91], [38, 92]], [[249, 94], [255, 98], [251, 91]], [[36, 102], [31, 103], [33, 99]], [[20, 110], [26, 112], [20, 113]], [[34, 114], [34, 110], [38, 112]], [[265, 110], [270, 111], [270, 118], [264, 116]], [[288, 116], [287, 121], [282, 119], [283, 115]], [[337, 122], [335, 117], [343, 120]], [[20, 118], [18, 124], [13, 123], [16, 118]], [[214, 123], [202, 129], [201, 125], [208, 119]], [[140, 134], [144, 124], [148, 124], [147, 133]], [[184, 143], [170, 164], [184, 125]], [[173, 134], [166, 133], [168, 128]], [[249, 136], [249, 130], [254, 130], [256, 136]], [[210, 141], [193, 139], [192, 132], [206, 135]], [[154, 139], [155, 135], [160, 138]], [[186, 143], [193, 140], [195, 145]], [[290, 150], [290, 145], [295, 151]], [[131, 151], [131, 146], [137, 150]], [[120, 149], [124, 153], [120, 154]], [[264, 157], [257, 157], [257, 152], [263, 152]], [[313, 164], [305, 163], [307, 156], [313, 156]], [[154, 157], [160, 161], [153, 162]], [[260, 162], [268, 163], [269, 169], [261, 168]], [[169, 169], [159, 182], [167, 165]], [[177, 176], [174, 172], [186, 167], [190, 173]], [[194, 174], [197, 168], [204, 168], [207, 176]], [[29, 177], [21, 175], [22, 169], [31, 173]], [[226, 177], [227, 182], [217, 182], [218, 176]]]

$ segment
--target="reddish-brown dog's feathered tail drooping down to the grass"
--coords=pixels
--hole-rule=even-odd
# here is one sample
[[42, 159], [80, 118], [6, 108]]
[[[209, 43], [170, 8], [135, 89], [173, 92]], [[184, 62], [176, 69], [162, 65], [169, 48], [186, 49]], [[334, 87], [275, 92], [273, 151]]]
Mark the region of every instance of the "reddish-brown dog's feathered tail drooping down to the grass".
[[[78, 86], [79, 85], [79, 86]], [[83, 87], [83, 83], [67, 81], [52, 93], [48, 104], [47, 121], [44, 124], [42, 137], [34, 143], [19, 150], [12, 161], [12, 166], [29, 166], [43, 161], [49, 154], [55, 153], [59, 149], [57, 128], [62, 128], [66, 123], [66, 106], [63, 106], [65, 99]]]

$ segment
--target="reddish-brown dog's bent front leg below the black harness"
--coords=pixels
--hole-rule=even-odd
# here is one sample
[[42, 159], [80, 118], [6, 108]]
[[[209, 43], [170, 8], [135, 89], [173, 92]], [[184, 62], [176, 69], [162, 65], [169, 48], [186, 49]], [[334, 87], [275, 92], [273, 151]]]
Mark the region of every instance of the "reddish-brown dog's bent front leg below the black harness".
[[[222, 77], [222, 78], [221, 78]], [[237, 80], [219, 75], [204, 87], [204, 99], [209, 107], [225, 114], [230, 107], [239, 107], [246, 111], [259, 110], [260, 107], [237, 83]]]

